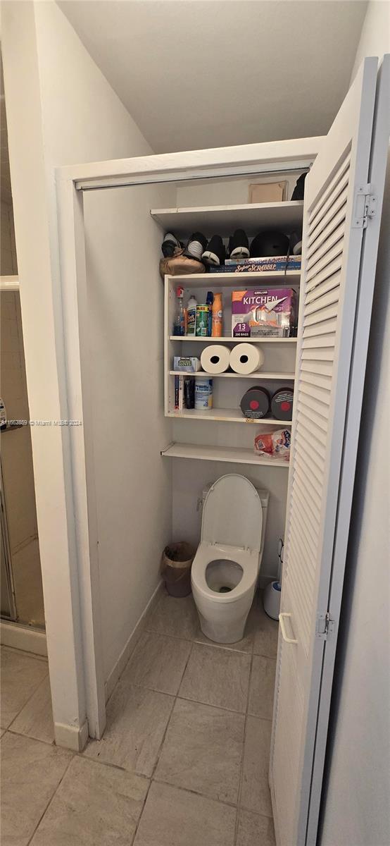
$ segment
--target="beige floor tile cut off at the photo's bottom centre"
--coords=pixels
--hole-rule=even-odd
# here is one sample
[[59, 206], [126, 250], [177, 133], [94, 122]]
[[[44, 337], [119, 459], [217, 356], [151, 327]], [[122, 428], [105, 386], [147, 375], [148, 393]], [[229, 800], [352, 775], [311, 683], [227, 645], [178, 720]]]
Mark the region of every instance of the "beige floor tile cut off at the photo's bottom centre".
[[236, 810], [153, 782], [134, 846], [233, 846]]

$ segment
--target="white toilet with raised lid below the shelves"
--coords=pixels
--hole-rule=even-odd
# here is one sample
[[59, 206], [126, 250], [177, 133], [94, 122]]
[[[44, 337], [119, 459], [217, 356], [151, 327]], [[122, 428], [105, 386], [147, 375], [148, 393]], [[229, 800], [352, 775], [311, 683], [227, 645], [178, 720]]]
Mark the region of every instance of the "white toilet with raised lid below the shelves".
[[191, 585], [200, 627], [215, 643], [236, 643], [244, 635], [263, 557], [268, 498], [268, 491], [236, 473], [203, 492]]

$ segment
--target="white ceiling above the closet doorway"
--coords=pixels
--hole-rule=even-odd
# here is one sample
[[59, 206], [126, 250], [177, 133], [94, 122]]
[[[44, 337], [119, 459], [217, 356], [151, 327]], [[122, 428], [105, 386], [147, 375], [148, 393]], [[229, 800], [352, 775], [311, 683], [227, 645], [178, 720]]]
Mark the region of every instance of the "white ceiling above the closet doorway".
[[58, 0], [155, 152], [323, 135], [363, 0]]

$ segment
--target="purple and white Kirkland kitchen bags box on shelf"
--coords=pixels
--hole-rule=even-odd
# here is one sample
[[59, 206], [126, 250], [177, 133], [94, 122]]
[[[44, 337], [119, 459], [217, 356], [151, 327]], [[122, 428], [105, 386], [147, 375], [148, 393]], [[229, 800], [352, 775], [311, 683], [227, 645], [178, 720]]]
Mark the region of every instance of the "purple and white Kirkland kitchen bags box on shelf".
[[252, 288], [231, 294], [233, 338], [289, 338], [295, 332], [295, 322], [292, 288]]

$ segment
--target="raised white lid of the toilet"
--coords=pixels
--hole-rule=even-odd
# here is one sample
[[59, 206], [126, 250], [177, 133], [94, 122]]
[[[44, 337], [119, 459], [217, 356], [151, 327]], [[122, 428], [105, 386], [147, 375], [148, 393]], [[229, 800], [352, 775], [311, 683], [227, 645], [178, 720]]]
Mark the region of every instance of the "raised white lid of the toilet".
[[203, 541], [260, 551], [262, 526], [262, 503], [252, 482], [236, 473], [214, 482], [204, 501]]

